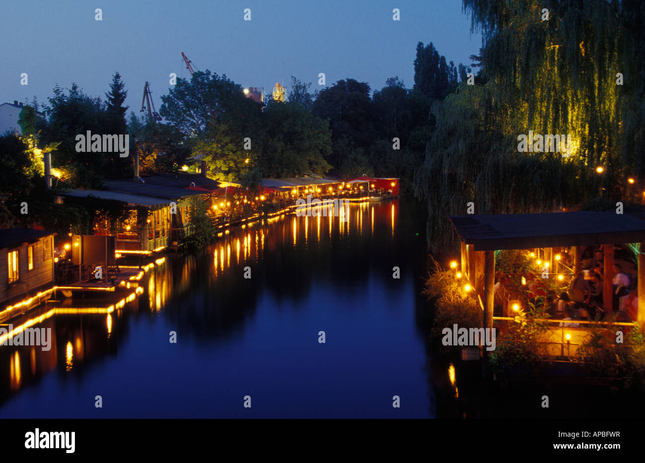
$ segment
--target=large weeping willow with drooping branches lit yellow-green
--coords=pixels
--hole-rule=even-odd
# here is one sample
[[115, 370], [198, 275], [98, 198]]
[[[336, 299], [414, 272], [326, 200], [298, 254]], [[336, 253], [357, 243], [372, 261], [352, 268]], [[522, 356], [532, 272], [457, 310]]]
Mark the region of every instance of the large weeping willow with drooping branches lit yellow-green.
[[[637, 1], [464, 0], [482, 33], [478, 86], [435, 103], [415, 175], [428, 241], [454, 244], [448, 215], [552, 212], [642, 178], [645, 6]], [[544, 19], [544, 8], [548, 19]], [[622, 85], [617, 79], [622, 74]], [[568, 157], [519, 152], [518, 136], [571, 135]], [[602, 175], [596, 168], [602, 166]]]

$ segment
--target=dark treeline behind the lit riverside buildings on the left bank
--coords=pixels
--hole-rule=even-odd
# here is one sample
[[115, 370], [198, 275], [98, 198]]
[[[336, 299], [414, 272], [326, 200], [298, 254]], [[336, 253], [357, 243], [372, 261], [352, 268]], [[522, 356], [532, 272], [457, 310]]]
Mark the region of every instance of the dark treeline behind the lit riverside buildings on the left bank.
[[[412, 88], [392, 77], [372, 92], [367, 83], [348, 78], [311, 92], [311, 83], [292, 77], [286, 101], [269, 97], [263, 104], [246, 97], [226, 75], [195, 72], [161, 97], [164, 123], [147, 114], [128, 115], [128, 91], [118, 72], [104, 97], [87, 95], [75, 83], [67, 89], [56, 85], [42, 108], [35, 99], [25, 106], [21, 136], [0, 137], [5, 166], [0, 221], [5, 226], [39, 222], [63, 235], [88, 232], [94, 206], [76, 210], [51, 204], [43, 152], [51, 153], [54, 191], [100, 189], [105, 179], [133, 178], [138, 155], [141, 174], [178, 172], [183, 166], [195, 172], [206, 161], [210, 177], [245, 186], [266, 177], [365, 173], [401, 177], [403, 191], [409, 192], [435, 130], [433, 104], [455, 92], [459, 78], [470, 72], [447, 63], [432, 43], [417, 45], [413, 66]], [[127, 134], [128, 157], [77, 151], [77, 135], [88, 131]], [[21, 213], [23, 202], [29, 213]], [[77, 230], [70, 230], [72, 221]]]

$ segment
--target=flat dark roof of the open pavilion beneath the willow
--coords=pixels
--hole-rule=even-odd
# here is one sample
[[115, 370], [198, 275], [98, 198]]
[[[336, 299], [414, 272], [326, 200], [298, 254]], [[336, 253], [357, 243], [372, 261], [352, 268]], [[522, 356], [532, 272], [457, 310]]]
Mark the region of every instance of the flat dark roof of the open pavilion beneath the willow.
[[645, 242], [645, 221], [615, 212], [456, 215], [450, 221], [475, 251]]

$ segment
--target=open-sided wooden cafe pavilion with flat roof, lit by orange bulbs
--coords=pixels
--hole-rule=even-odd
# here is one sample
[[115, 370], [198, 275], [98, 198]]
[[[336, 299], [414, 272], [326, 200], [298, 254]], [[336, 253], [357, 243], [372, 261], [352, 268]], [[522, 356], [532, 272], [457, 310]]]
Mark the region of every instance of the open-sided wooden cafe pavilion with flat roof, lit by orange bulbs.
[[[484, 328], [493, 328], [495, 324], [513, 320], [513, 310], [527, 310], [519, 291], [506, 291], [504, 313], [493, 317], [495, 286], [495, 251], [525, 250], [527, 253], [542, 252], [545, 262], [554, 262], [562, 250], [570, 248], [573, 254], [573, 274], [582, 269], [581, 254], [584, 246], [599, 246], [603, 255], [603, 299], [602, 310], [612, 311], [612, 285], [614, 276], [615, 244], [632, 244], [637, 252], [637, 292], [644, 297], [638, 299], [636, 322], [645, 326], [645, 221], [627, 214], [615, 212], [554, 212], [534, 214], [497, 214], [497, 215], [459, 215], [451, 216], [450, 221], [461, 240], [461, 275], [464, 288], [472, 288], [483, 310]], [[639, 248], [640, 246], [640, 248]], [[541, 251], [542, 250], [542, 251]], [[459, 264], [453, 264], [455, 267]], [[557, 264], [555, 264], [557, 267]], [[547, 266], [548, 268], [548, 266]], [[553, 268], [553, 264], [551, 264]], [[544, 265], [542, 266], [544, 269]], [[455, 269], [456, 270], [456, 269]], [[535, 271], [538, 277], [542, 272]], [[548, 277], [559, 277], [550, 271]], [[524, 306], [522, 306], [524, 305]], [[550, 325], [555, 322], [550, 321]], [[577, 321], [577, 320], [576, 320]], [[555, 323], [551, 330], [560, 329], [562, 337], [574, 344], [583, 339], [593, 324], [602, 323], [585, 321], [574, 323]], [[621, 323], [631, 325], [633, 323]], [[567, 333], [564, 328], [567, 326]], [[642, 330], [642, 328], [641, 328]]]

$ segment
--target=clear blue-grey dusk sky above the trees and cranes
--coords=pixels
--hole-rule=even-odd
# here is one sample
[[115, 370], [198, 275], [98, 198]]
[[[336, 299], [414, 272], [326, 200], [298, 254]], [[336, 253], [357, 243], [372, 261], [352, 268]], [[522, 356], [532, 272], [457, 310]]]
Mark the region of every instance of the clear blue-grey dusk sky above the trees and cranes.
[[[95, 8], [103, 21], [95, 21]], [[250, 8], [251, 21], [244, 21]], [[392, 10], [401, 10], [393, 21]], [[126, 104], [139, 115], [145, 81], [154, 104], [167, 92], [168, 76], [190, 78], [184, 52], [199, 70], [242, 86], [285, 85], [294, 75], [321, 89], [350, 77], [372, 90], [398, 75], [413, 85], [419, 41], [432, 42], [447, 61], [470, 64], [481, 35], [470, 34], [461, 0], [446, 1], [20, 1], [3, 5], [5, 46], [0, 51], [0, 103], [47, 103], [55, 84], [77, 83], [101, 96], [118, 71]], [[28, 85], [20, 84], [21, 73]]]

